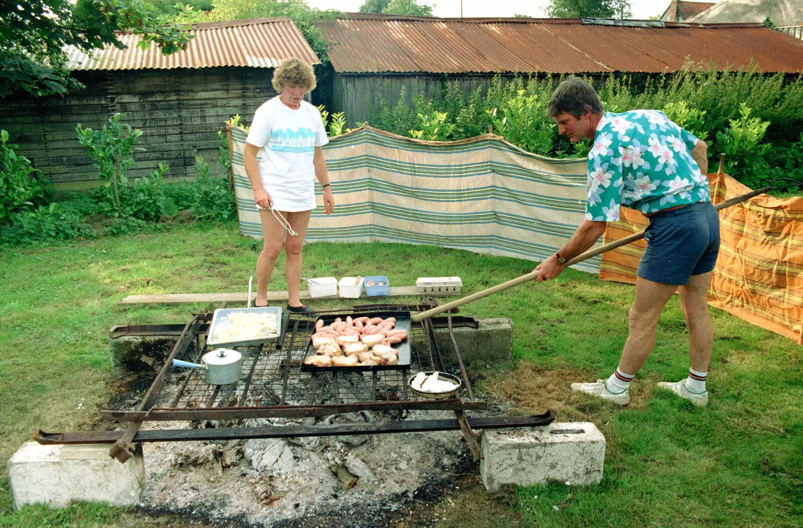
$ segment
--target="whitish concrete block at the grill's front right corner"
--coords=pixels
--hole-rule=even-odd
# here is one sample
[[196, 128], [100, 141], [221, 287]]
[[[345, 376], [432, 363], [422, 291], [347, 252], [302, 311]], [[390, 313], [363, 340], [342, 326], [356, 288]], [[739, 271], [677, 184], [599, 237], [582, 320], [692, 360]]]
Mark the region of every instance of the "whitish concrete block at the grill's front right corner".
[[605, 437], [591, 422], [483, 431], [479, 473], [489, 491], [503, 484], [598, 484]]

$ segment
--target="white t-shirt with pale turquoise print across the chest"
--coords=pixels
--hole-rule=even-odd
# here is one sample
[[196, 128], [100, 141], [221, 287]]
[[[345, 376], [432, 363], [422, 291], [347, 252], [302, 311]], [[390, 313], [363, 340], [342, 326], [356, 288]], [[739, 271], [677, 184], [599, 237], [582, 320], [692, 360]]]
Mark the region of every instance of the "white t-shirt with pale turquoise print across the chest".
[[307, 101], [293, 110], [277, 95], [257, 108], [247, 143], [259, 147], [259, 179], [277, 211], [315, 209], [316, 147], [329, 142], [318, 109]]

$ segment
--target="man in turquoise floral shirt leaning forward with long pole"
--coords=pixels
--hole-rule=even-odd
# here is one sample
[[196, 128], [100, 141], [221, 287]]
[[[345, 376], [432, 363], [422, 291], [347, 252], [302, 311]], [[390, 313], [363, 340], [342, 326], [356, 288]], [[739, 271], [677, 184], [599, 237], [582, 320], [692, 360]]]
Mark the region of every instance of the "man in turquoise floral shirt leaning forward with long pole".
[[618, 368], [607, 380], [574, 383], [572, 389], [626, 405], [630, 381], [652, 351], [658, 316], [679, 290], [691, 368], [687, 379], [658, 386], [695, 405], [707, 405], [713, 329], [706, 292], [719, 254], [719, 220], [705, 177], [706, 144], [663, 112], [605, 112], [597, 92], [577, 77], [560, 83], [548, 113], [561, 134], [573, 142], [589, 138], [593, 147], [585, 221], [560, 251], [536, 267], [538, 281], [556, 278], [565, 262], [593, 246], [606, 222], [619, 219], [622, 205], [650, 220], [628, 318], [630, 333]]

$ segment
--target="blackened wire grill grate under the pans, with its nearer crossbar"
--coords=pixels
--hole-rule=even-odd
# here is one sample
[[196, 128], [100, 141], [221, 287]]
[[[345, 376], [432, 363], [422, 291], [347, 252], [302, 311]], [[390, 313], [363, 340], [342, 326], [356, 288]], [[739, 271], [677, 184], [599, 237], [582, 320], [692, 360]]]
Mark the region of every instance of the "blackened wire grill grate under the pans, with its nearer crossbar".
[[[381, 311], [426, 310], [421, 305], [362, 305], [353, 307], [356, 315]], [[173, 398], [166, 404], [143, 402], [132, 412], [101, 411], [107, 420], [245, 420], [249, 418], [328, 416], [342, 412], [438, 409], [481, 410], [481, 401], [427, 400], [415, 396], [407, 380], [417, 372], [443, 370], [442, 360], [429, 319], [413, 323], [410, 328], [410, 366], [397, 370], [371, 372], [301, 372], [301, 359], [307, 354], [310, 336], [320, 315], [341, 314], [343, 309], [318, 311], [313, 315], [285, 311], [282, 335], [275, 343], [237, 347], [243, 353], [243, 378], [234, 385], [211, 385], [200, 371], [173, 371], [167, 366], [161, 388], [151, 390], [150, 401], [157, 400], [165, 381], [178, 384]], [[205, 321], [209, 315], [199, 319]], [[208, 327], [203, 327], [208, 331]], [[194, 356], [198, 363], [206, 353], [201, 343], [206, 331], [198, 331]], [[175, 359], [185, 359], [185, 351], [177, 351]], [[172, 358], [170, 358], [172, 359]], [[160, 377], [152, 389], [160, 384]], [[469, 384], [464, 380], [463, 392]], [[473, 400], [473, 398], [469, 398]], [[327, 402], [327, 403], [324, 403]]]

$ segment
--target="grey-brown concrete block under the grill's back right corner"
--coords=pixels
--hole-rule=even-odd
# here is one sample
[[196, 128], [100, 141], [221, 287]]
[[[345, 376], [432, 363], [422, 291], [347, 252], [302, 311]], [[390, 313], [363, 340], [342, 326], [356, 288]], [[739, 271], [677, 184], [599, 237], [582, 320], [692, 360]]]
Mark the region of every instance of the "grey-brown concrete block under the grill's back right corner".
[[[436, 328], [435, 337], [444, 361], [457, 362], [448, 328]], [[463, 363], [478, 368], [513, 359], [513, 323], [507, 318], [479, 319], [479, 328], [454, 328]]]

